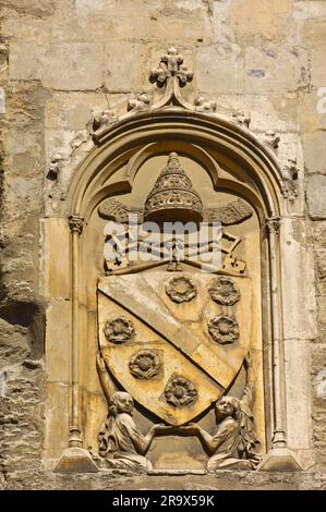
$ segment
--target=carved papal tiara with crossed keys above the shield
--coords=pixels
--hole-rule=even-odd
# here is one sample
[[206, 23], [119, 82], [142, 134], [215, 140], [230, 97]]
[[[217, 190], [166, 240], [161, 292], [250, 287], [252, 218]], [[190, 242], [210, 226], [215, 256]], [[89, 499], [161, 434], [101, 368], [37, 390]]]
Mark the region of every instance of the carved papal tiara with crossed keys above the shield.
[[[161, 222], [190, 222], [198, 224], [201, 221], [212, 225], [213, 222], [220, 222], [222, 225], [232, 225], [249, 219], [253, 215], [252, 208], [242, 199], [236, 199], [225, 206], [217, 208], [203, 208], [203, 203], [198, 193], [193, 188], [192, 182], [183, 170], [179, 157], [176, 153], [171, 153], [168, 158], [167, 166], [160, 172], [153, 190], [147, 195], [144, 208], [134, 208], [124, 206], [117, 199], [106, 199], [98, 207], [98, 215], [105, 219], [119, 223], [128, 223], [129, 217], [132, 215], [132, 222], [142, 224], [144, 221]], [[142, 225], [136, 228], [136, 239], [130, 235], [128, 225], [125, 230], [121, 227], [119, 233], [108, 233], [105, 242], [106, 267], [108, 272], [126, 272], [129, 268], [129, 255], [140, 251], [147, 249], [147, 233], [142, 231]], [[150, 252], [168, 263], [169, 270], [182, 270], [180, 263], [184, 261], [191, 266], [195, 266], [198, 254], [212, 253], [219, 251], [220, 245], [217, 237], [212, 236], [206, 244], [201, 247], [192, 245], [191, 242], [183, 241], [182, 247], [176, 236], [171, 234], [171, 240], [165, 237], [165, 244], [160, 241], [157, 246], [150, 247]], [[222, 231], [221, 233], [221, 252], [224, 253], [222, 270], [230, 275], [241, 275], [244, 272], [245, 261], [236, 258], [233, 251], [241, 243], [241, 237]], [[178, 245], [179, 244], [179, 245]], [[120, 254], [119, 247], [123, 247], [123, 254]], [[147, 247], [147, 248], [146, 248]], [[203, 259], [204, 260], [204, 259]], [[134, 261], [134, 259], [133, 259]], [[134, 264], [136, 265], [136, 264]], [[157, 266], [156, 261], [143, 264], [140, 269], [148, 269]], [[218, 268], [210, 268], [209, 271], [218, 271]]]

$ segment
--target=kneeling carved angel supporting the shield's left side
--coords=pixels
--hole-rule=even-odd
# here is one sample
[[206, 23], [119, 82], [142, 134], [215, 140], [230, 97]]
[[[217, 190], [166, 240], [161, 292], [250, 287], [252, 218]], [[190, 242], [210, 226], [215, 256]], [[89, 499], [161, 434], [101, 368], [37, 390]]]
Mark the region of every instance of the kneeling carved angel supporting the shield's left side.
[[146, 436], [140, 431], [132, 415], [134, 402], [131, 394], [116, 391], [100, 354], [97, 371], [108, 401], [108, 417], [98, 434], [98, 453], [106, 467], [150, 470], [152, 464], [144, 455], [149, 449], [155, 434], [164, 430], [164, 425], [153, 425]]

